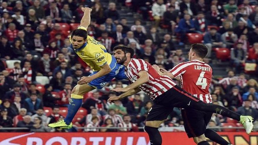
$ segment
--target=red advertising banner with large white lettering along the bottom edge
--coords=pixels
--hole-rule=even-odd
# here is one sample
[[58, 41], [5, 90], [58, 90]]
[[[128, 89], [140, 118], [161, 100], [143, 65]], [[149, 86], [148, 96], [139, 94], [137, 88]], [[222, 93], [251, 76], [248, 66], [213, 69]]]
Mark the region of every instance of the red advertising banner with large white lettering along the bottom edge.
[[[195, 145], [185, 132], [162, 132], [162, 145]], [[219, 132], [234, 145], [258, 145], [258, 132]], [[208, 140], [209, 141], [209, 140]], [[211, 145], [213, 142], [209, 141]], [[0, 133], [0, 145], [150, 145], [146, 132]]]

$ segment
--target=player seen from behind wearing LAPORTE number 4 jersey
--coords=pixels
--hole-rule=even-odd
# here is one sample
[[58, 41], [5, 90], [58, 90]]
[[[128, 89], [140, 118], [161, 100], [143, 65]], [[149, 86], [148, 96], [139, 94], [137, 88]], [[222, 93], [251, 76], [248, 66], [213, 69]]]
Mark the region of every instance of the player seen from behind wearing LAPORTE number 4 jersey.
[[[204, 103], [212, 103], [209, 86], [211, 84], [212, 68], [203, 62], [206, 57], [208, 48], [199, 43], [191, 45], [189, 52], [189, 62], [183, 62], [176, 65], [169, 72], [159, 68], [157, 65], [153, 67], [160, 75], [167, 75], [170, 78], [179, 77], [181, 88], [193, 96], [199, 98]], [[207, 124], [211, 120], [212, 112], [201, 111], [196, 109], [182, 109], [182, 118], [184, 120], [184, 128], [189, 138], [193, 138], [198, 145], [208, 144], [206, 137], [221, 145], [230, 145], [228, 141], [211, 129], [206, 129]], [[244, 121], [249, 121], [248, 118]], [[252, 120], [251, 117], [249, 117]], [[249, 132], [248, 132], [249, 133]]]

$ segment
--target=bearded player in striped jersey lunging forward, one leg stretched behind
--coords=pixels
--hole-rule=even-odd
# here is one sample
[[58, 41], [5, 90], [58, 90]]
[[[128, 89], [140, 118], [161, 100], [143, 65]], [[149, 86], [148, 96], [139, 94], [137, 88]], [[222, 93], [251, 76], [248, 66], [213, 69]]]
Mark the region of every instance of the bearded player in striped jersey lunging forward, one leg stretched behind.
[[[244, 125], [247, 134], [252, 131], [251, 116], [240, 116], [236, 112], [222, 106], [203, 103], [197, 97], [176, 86], [176, 83], [169, 76], [159, 75], [150, 63], [142, 59], [134, 59], [133, 55], [134, 50], [130, 47], [116, 46], [114, 48], [114, 56], [117, 59], [117, 63], [125, 66], [125, 74], [132, 84], [125, 88], [112, 89], [113, 91], [125, 93], [118, 97], [110, 97], [108, 101], [114, 102], [138, 93], [141, 90], [147, 93], [154, 102], [147, 115], [145, 124], [145, 131], [148, 133], [152, 145], [162, 144], [162, 137], [158, 127], [167, 119], [174, 107], [218, 113], [240, 121]], [[198, 145], [209, 145], [209, 143], [201, 141]]]

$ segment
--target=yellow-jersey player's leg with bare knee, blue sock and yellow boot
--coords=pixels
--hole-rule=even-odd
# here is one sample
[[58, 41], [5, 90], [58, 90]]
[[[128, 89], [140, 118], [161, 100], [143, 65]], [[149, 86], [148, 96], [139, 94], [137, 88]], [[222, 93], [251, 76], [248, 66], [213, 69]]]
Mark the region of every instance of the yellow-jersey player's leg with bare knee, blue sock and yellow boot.
[[77, 84], [72, 89], [71, 99], [68, 105], [68, 112], [65, 119], [55, 123], [48, 124], [48, 126], [52, 128], [65, 128], [65, 129], [71, 128], [72, 127], [71, 122], [75, 114], [77, 113], [77, 111], [82, 105], [83, 95], [94, 89], [95, 89], [94, 87], [89, 86], [88, 84], [82, 84], [82, 85]]

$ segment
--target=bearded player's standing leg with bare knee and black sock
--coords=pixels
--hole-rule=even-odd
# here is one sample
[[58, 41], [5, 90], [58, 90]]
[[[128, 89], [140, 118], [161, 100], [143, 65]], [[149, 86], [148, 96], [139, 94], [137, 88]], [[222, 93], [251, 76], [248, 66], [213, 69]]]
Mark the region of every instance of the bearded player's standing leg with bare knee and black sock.
[[159, 133], [159, 125], [164, 122], [164, 120], [156, 120], [156, 121], [146, 121], [145, 123], [145, 131], [148, 133], [150, 138], [151, 145], [161, 145], [162, 144], [162, 137]]

